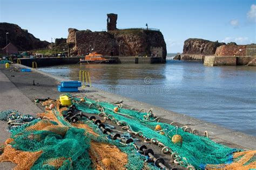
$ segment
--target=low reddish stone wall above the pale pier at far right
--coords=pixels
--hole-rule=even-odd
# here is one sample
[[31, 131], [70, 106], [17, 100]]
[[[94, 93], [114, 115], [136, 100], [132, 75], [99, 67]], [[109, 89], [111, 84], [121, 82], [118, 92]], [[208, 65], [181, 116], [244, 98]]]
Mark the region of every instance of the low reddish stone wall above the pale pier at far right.
[[215, 55], [246, 56], [246, 45], [222, 45], [216, 49]]

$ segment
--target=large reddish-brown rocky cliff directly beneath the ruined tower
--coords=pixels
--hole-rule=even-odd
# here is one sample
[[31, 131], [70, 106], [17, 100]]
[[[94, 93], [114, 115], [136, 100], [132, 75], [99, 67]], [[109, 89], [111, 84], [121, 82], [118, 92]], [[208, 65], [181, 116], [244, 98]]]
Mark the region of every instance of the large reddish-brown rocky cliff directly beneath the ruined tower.
[[67, 42], [75, 42], [73, 54], [85, 55], [96, 51], [104, 55], [138, 56], [151, 55], [150, 47], [163, 47], [164, 60], [166, 58], [166, 44], [160, 31], [127, 29], [114, 31], [91, 32], [69, 29]]

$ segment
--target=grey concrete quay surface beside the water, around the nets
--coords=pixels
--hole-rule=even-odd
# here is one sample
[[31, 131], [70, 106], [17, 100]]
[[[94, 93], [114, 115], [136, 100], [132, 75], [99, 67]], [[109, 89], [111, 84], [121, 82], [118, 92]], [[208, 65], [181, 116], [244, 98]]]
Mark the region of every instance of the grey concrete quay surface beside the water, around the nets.
[[[33, 100], [35, 100], [35, 98], [47, 97], [58, 98], [59, 95], [63, 93], [60, 93], [57, 90], [57, 84], [59, 84], [60, 81], [69, 81], [68, 79], [53, 76], [37, 69], [32, 69], [32, 72], [12, 71], [14, 67], [29, 68], [23, 65], [11, 65], [11, 67], [12, 68], [5, 69], [4, 65], [0, 65], [0, 111], [16, 109], [19, 112], [35, 116], [38, 112], [42, 112], [43, 109], [37, 107]], [[33, 80], [35, 80], [35, 86], [33, 86]], [[149, 110], [153, 108], [154, 114], [160, 117], [161, 122], [171, 123], [174, 121], [177, 122], [178, 126], [187, 125], [191, 129], [198, 130], [201, 135], [204, 134], [204, 131], [208, 131], [209, 137], [213, 141], [228, 147], [256, 150], [256, 137], [254, 136], [226, 129], [219, 125], [178, 114], [128, 97], [111, 94], [94, 87], [80, 88], [79, 93], [70, 94], [85, 95], [93, 100], [102, 100], [106, 102], [123, 100], [124, 107], [126, 108], [134, 108], [138, 110]], [[5, 139], [10, 137], [9, 132], [6, 131], [6, 126], [6, 122], [0, 121], [1, 143], [4, 143]], [[0, 169], [11, 169], [14, 167], [15, 164], [10, 162], [3, 162], [0, 164]]]

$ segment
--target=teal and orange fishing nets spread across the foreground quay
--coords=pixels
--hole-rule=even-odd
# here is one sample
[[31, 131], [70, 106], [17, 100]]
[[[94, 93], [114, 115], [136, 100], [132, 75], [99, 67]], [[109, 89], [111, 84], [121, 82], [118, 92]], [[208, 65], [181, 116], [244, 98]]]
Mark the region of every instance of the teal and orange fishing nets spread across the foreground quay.
[[[66, 95], [72, 98], [72, 104], [78, 110], [91, 116], [102, 116], [122, 126], [123, 130], [129, 132], [129, 136], [168, 147], [169, 154], [174, 155], [173, 159], [183, 167], [256, 168], [256, 151], [230, 148], [207, 137], [185, 132], [177, 126], [160, 123], [152, 111], [124, 109], [122, 105], [89, 98], [80, 102], [80, 98]], [[14, 162], [17, 169], [157, 169], [145, 162], [147, 158], [139, 154], [132, 143], [123, 144], [119, 140], [110, 139], [87, 118], [79, 118], [76, 123], [66, 121], [63, 115], [68, 108], [61, 108], [58, 100], [43, 104], [48, 107], [53, 103], [53, 109], [38, 114], [41, 119], [30, 119], [10, 129], [11, 138], [5, 141], [0, 161]], [[14, 110], [3, 111], [0, 112], [0, 119], [9, 121], [11, 115], [15, 114], [17, 111]], [[158, 125], [160, 130], [156, 130]], [[176, 135], [181, 137], [177, 143], [172, 140]]]

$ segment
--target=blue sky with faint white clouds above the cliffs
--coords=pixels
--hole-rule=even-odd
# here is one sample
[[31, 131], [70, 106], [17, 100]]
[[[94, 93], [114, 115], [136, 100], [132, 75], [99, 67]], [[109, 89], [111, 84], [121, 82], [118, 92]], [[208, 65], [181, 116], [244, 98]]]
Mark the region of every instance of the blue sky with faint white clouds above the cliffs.
[[256, 43], [255, 0], [0, 0], [0, 22], [49, 42], [67, 38], [70, 27], [102, 31], [107, 13], [118, 14], [120, 29], [160, 29], [168, 53], [182, 52], [188, 38]]

